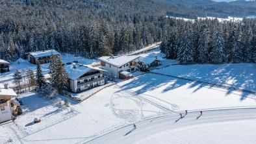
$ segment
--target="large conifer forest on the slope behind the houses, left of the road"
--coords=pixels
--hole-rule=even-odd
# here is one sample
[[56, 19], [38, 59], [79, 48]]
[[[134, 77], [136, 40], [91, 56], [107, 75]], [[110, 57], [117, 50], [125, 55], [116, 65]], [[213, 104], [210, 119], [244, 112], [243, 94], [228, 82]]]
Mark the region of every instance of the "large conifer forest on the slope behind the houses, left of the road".
[[[200, 1], [189, 3], [199, 5]], [[173, 19], [169, 23], [166, 12], [183, 8], [185, 14], [191, 14], [186, 3], [188, 1], [177, 0], [2, 0], [0, 58], [11, 62], [25, 53], [47, 49], [86, 58], [129, 53], [166, 38], [163, 37], [166, 25], [175, 23], [175, 27], [183, 28], [185, 21]], [[244, 10], [244, 6], [240, 9]]]

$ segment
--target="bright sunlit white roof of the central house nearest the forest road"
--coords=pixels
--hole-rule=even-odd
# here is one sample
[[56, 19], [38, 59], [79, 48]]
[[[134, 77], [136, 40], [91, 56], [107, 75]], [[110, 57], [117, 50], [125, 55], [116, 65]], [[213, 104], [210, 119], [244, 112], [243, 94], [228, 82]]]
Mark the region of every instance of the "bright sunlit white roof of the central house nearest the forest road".
[[140, 56], [119, 56], [119, 57], [102, 56], [98, 58], [98, 60], [106, 62], [107, 64], [110, 64], [112, 66], [120, 67], [135, 60], [138, 57]]

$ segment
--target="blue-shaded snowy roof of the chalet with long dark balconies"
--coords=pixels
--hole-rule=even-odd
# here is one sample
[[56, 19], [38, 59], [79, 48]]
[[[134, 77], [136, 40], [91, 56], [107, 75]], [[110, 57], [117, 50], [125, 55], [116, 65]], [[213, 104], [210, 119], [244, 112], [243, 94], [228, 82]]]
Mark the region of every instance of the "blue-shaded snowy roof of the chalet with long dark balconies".
[[[74, 66], [75, 66], [75, 68], [74, 68]], [[91, 69], [94, 69], [97, 71], [105, 71], [104, 69], [99, 69], [99, 68], [92, 67], [92, 66], [86, 66], [83, 64], [73, 63], [70, 65], [66, 65], [66, 70], [68, 71], [68, 77], [71, 80], [76, 80], [77, 78], [81, 77], [82, 75], [84, 75], [84, 73], [87, 73]]]

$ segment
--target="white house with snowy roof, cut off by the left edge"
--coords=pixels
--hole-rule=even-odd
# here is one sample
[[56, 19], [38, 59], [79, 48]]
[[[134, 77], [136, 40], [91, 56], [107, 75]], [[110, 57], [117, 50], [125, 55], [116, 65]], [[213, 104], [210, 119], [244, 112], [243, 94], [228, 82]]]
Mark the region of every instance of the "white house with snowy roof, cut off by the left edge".
[[12, 89], [0, 88], [0, 123], [12, 119], [12, 104], [10, 99], [18, 97]]

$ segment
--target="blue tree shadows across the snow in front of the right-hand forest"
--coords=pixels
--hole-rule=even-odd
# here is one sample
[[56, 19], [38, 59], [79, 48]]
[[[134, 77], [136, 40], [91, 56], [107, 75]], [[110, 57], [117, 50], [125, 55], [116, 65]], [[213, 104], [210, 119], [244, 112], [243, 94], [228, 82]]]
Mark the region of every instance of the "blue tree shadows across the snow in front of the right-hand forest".
[[[127, 84], [122, 85], [121, 88], [122, 90], [131, 90], [133, 88], [140, 87], [140, 89], [134, 91], [134, 93], [140, 94], [146, 91], [155, 90], [162, 86], [167, 86], [162, 90], [162, 93], [165, 93], [189, 84], [188, 88], [196, 88], [193, 93], [201, 90], [201, 88], [207, 87], [215, 90], [224, 90], [226, 95], [229, 95], [230, 93], [233, 93], [233, 91], [238, 91], [233, 88], [255, 91], [256, 76], [255, 72], [253, 72], [255, 70], [256, 68], [253, 64], [246, 64], [246, 67], [244, 67], [244, 64], [176, 65], [154, 71], [164, 75], [157, 75], [153, 73], [141, 75], [130, 80]], [[168, 77], [166, 75], [190, 78], [194, 81]], [[199, 80], [199, 82], [196, 82], [195, 80]], [[218, 88], [216, 85], [227, 86], [230, 88]], [[248, 97], [256, 99], [256, 97], [253, 97], [251, 93], [246, 91], [241, 91], [239, 96], [240, 101], [243, 101]]]

